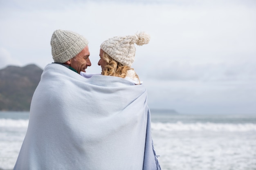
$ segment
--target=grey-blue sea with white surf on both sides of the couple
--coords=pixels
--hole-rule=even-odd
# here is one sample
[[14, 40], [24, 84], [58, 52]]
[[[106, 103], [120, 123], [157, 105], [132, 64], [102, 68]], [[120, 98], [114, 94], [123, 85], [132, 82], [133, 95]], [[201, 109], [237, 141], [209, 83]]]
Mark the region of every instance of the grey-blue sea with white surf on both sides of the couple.
[[[0, 170], [12, 170], [28, 112], [0, 112]], [[151, 111], [162, 170], [256, 170], [256, 114], [173, 114]]]

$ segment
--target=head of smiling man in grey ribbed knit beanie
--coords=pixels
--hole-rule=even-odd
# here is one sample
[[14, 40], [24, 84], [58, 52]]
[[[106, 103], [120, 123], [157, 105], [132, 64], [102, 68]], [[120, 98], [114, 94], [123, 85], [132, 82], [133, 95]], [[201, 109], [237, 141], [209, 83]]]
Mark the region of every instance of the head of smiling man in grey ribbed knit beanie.
[[62, 64], [77, 73], [91, 66], [88, 41], [72, 31], [56, 30], [51, 40], [54, 63]]

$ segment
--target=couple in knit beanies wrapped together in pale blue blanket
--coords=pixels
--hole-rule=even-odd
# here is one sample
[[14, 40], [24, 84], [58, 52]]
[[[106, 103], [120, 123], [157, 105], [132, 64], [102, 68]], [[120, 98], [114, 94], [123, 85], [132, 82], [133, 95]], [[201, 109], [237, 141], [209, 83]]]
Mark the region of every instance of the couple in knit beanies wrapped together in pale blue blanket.
[[88, 41], [72, 31], [52, 35], [54, 63], [45, 66], [31, 101], [29, 125], [14, 170], [160, 170], [147, 91], [130, 67], [149, 35], [101, 44], [101, 74], [90, 66]]

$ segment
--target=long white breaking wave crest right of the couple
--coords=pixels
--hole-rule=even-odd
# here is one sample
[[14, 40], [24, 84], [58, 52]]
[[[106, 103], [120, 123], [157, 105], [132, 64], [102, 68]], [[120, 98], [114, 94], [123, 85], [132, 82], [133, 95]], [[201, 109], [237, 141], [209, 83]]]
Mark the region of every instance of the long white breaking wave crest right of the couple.
[[152, 130], [160, 131], [227, 131], [227, 132], [246, 132], [256, 131], [256, 124], [217, 124], [217, 123], [151, 123]]

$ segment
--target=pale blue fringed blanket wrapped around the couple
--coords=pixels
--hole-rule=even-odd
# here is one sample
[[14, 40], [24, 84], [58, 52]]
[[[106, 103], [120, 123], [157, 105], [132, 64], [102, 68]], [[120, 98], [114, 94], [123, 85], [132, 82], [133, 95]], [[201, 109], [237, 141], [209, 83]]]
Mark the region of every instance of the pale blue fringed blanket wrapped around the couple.
[[150, 133], [144, 85], [48, 64], [14, 170], [160, 169]]

